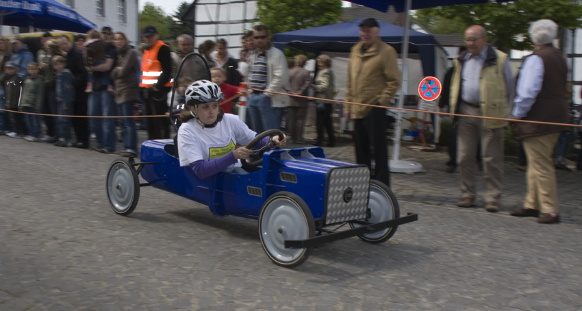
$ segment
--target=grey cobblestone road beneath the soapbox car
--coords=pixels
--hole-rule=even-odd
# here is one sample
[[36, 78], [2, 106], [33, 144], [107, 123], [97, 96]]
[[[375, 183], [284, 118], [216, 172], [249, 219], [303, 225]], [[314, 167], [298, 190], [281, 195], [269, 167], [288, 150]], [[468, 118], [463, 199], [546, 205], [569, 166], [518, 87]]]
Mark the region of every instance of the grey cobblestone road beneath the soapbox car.
[[[326, 154], [352, 160], [353, 147]], [[0, 311], [582, 310], [579, 171], [558, 172], [566, 221], [539, 225], [507, 216], [525, 193], [511, 164], [502, 212], [461, 210], [446, 155], [403, 149], [426, 171], [392, 186], [419, 221], [382, 245], [318, 247], [290, 270], [268, 260], [256, 221], [154, 188], [114, 214], [115, 158], [0, 136]]]

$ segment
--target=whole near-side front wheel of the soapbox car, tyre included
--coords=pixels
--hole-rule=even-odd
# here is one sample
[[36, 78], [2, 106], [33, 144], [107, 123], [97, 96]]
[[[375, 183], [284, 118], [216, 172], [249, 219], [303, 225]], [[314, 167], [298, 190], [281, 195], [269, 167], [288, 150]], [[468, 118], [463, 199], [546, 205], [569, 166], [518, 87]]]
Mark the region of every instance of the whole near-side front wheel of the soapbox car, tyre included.
[[313, 247], [286, 249], [285, 240], [305, 240], [315, 235], [315, 222], [307, 204], [291, 192], [277, 192], [263, 204], [259, 216], [263, 249], [278, 266], [293, 268], [309, 258]]

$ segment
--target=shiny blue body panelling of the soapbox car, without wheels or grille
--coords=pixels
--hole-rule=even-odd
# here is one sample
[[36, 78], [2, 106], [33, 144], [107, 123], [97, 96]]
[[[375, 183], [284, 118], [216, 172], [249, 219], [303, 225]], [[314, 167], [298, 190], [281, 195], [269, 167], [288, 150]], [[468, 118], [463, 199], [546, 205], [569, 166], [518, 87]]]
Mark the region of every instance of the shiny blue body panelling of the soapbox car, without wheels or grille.
[[325, 158], [319, 147], [279, 149], [263, 154], [262, 167], [240, 175], [220, 172], [200, 179], [173, 156], [173, 140], [147, 140], [141, 148], [140, 174], [151, 186], [209, 206], [219, 216], [258, 219], [263, 203], [276, 192], [299, 195], [316, 221], [325, 217], [326, 177], [330, 169], [355, 166]]

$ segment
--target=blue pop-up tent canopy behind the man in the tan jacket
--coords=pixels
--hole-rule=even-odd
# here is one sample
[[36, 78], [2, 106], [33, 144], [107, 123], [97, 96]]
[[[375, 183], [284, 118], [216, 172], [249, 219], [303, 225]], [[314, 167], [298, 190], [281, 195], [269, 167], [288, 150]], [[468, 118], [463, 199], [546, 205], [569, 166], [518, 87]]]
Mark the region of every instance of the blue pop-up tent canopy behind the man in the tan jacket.
[[[275, 34], [273, 43], [275, 47], [281, 50], [287, 46], [316, 54], [324, 51], [349, 53], [351, 47], [359, 41], [358, 25], [362, 21], [364, 21], [364, 18], [333, 25], [295, 30], [294, 32], [282, 32]], [[382, 41], [394, 47], [398, 53], [401, 53], [404, 28], [382, 22], [379, 22], [379, 24]], [[435, 46], [438, 46], [435, 38], [430, 34], [423, 34], [413, 30], [410, 31], [409, 44], [410, 53], [420, 54], [423, 73], [425, 75], [435, 75]]]

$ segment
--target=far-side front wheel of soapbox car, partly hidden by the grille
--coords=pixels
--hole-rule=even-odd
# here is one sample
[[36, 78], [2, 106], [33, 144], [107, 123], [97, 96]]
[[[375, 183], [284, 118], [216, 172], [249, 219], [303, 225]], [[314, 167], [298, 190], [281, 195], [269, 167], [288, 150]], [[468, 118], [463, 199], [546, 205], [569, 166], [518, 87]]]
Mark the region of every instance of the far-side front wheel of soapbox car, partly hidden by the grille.
[[[370, 190], [368, 193], [368, 208], [370, 208], [369, 223], [380, 223], [382, 221], [389, 221], [390, 219], [400, 217], [398, 201], [396, 201], [396, 196], [388, 186], [375, 179], [370, 179]], [[350, 223], [350, 226], [354, 228], [361, 225]], [[383, 229], [379, 232], [362, 234], [361, 236], [358, 236], [358, 238], [361, 238], [368, 243], [378, 244], [392, 238], [394, 233], [396, 233], [396, 228], [398, 228], [398, 226]]]

